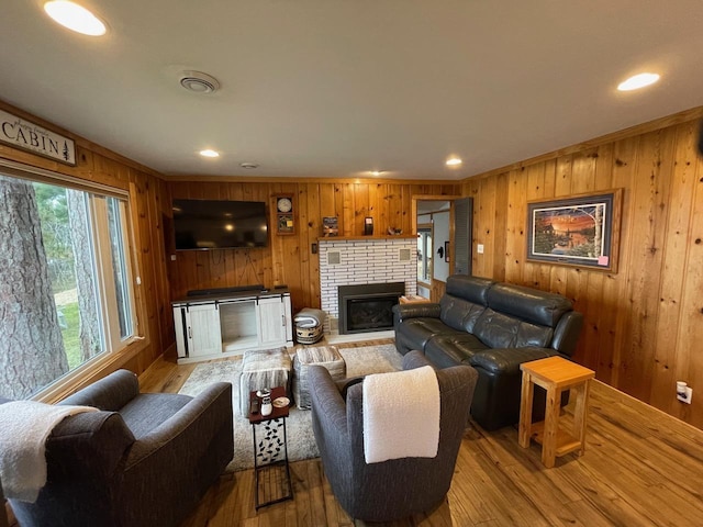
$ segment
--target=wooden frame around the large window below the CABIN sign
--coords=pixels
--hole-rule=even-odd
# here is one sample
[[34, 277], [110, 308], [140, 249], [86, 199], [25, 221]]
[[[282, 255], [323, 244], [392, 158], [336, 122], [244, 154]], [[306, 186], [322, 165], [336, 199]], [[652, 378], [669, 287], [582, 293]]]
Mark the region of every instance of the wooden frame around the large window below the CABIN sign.
[[108, 344], [105, 352], [102, 352], [76, 367], [74, 370], [68, 371], [66, 374], [56, 379], [53, 383], [31, 397], [34, 401], [52, 404], [65, 399], [77, 390], [91, 384], [96, 380], [105, 377], [112, 371], [124, 367], [142, 350], [150, 346], [148, 326], [146, 324], [146, 304], [141, 279], [143, 267], [140, 254], [136, 250], [137, 244], [135, 243], [138, 225], [136, 202], [137, 192], [133, 183], [129, 183], [129, 190], [126, 190], [3, 158], [0, 158], [0, 172], [5, 176], [27, 181], [62, 186], [93, 194], [116, 198], [125, 203], [124, 212], [121, 212], [121, 216], [123, 216], [123, 220], [125, 221], [125, 228], [122, 235], [126, 242], [125, 256], [126, 261], [129, 262], [129, 280], [132, 287], [133, 335], [122, 339], [116, 349], [112, 348], [110, 344]]

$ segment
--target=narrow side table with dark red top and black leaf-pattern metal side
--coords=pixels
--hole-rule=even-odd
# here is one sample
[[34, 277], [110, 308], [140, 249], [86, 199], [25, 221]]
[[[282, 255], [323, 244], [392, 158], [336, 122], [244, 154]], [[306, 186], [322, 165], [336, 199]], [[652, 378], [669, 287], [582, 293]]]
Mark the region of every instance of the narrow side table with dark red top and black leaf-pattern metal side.
[[[286, 389], [277, 386], [271, 389], [271, 402], [286, 396]], [[258, 399], [256, 392], [249, 393], [249, 401]], [[260, 399], [259, 399], [260, 402]], [[290, 480], [290, 467], [288, 464], [288, 444], [286, 436], [286, 418], [288, 406], [276, 407], [264, 416], [259, 411], [252, 414], [250, 406], [248, 419], [252, 424], [254, 437], [254, 472], [256, 473], [256, 508], [272, 505], [293, 497], [293, 485]], [[257, 428], [259, 437], [257, 439]]]

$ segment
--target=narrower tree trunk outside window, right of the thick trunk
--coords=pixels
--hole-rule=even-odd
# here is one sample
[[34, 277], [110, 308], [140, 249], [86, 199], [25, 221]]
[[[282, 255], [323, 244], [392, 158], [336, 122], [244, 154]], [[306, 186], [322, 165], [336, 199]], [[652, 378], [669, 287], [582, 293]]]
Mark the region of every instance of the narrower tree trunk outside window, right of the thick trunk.
[[76, 289], [78, 293], [78, 313], [81, 362], [91, 359], [101, 351], [100, 325], [98, 323], [98, 298], [93, 273], [93, 259], [90, 253], [92, 244], [88, 228], [85, 193], [67, 190], [68, 218], [70, 223], [70, 243], [74, 247]]

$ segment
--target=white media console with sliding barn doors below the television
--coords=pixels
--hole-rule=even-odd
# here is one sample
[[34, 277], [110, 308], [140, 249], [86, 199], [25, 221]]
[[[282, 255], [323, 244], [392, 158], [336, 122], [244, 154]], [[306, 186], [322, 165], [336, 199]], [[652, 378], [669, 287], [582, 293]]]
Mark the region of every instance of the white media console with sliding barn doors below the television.
[[293, 345], [286, 289], [192, 295], [171, 307], [179, 363]]

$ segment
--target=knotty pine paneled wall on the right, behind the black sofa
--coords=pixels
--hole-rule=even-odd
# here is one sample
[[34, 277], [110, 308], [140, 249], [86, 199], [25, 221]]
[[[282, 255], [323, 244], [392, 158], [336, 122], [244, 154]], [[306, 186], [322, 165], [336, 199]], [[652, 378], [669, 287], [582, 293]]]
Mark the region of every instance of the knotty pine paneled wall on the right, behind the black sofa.
[[[473, 272], [567, 295], [585, 315], [576, 360], [703, 428], [703, 109], [465, 181]], [[525, 261], [527, 202], [624, 189], [617, 273]], [[694, 390], [676, 400], [676, 381]], [[696, 396], [695, 394], [699, 393]]]

